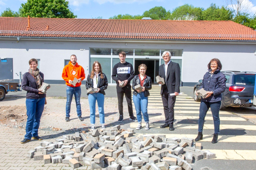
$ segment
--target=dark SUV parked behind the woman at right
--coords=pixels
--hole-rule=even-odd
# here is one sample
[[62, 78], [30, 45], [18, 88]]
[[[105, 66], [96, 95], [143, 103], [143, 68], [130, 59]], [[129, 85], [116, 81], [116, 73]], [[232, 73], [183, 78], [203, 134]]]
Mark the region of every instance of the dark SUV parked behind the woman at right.
[[[227, 107], [250, 107], [253, 105], [253, 92], [255, 72], [248, 71], [222, 71], [227, 78], [226, 89], [222, 93], [220, 110]], [[201, 101], [201, 96], [196, 95], [202, 80], [194, 87], [194, 100]]]

